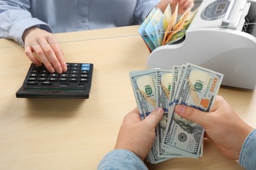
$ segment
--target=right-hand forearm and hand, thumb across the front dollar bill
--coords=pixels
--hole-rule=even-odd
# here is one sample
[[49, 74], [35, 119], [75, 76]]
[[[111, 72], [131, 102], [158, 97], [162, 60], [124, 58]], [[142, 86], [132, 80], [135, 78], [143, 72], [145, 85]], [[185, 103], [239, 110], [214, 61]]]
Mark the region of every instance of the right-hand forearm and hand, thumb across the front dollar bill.
[[[203, 126], [205, 137], [212, 141], [228, 158], [238, 160], [238, 158], [243, 158], [243, 152], [248, 154], [245, 152], [250, 149], [256, 150], [255, 144], [253, 147], [251, 146], [251, 143], [255, 143], [255, 133], [251, 135], [251, 138], [248, 136], [253, 131], [253, 127], [246, 124], [221, 96], [217, 96], [210, 112], [202, 112], [184, 105], [175, 107], [175, 112], [183, 118]], [[245, 139], [248, 141], [247, 144]], [[248, 149], [246, 146], [251, 148]], [[256, 164], [255, 152], [253, 154], [254, 157], [248, 159], [254, 158], [253, 162]]]

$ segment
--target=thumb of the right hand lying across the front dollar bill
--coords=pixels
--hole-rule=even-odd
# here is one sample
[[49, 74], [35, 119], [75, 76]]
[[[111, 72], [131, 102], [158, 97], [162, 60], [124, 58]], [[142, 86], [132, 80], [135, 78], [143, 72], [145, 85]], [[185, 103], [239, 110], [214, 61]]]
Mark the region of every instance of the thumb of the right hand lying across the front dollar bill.
[[207, 113], [201, 110], [185, 105], [177, 105], [177, 107], [175, 107], [175, 113], [179, 114], [182, 118], [190, 120], [203, 127], [206, 125]]

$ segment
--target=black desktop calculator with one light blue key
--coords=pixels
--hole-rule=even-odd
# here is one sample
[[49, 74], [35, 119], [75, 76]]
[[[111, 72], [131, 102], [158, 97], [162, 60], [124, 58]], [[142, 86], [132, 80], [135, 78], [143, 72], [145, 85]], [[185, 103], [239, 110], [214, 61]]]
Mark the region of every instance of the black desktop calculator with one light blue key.
[[50, 73], [33, 63], [16, 97], [88, 99], [93, 78], [92, 63], [67, 63], [68, 71]]

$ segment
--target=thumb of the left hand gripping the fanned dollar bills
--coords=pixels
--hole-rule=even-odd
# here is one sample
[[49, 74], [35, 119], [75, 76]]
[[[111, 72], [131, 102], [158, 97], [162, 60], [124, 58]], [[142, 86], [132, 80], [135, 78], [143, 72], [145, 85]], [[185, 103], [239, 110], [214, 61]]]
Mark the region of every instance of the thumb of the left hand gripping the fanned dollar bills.
[[144, 121], [148, 122], [151, 126], [156, 127], [158, 123], [160, 122], [161, 118], [163, 117], [163, 109], [160, 107], [156, 108], [154, 111], [152, 111], [145, 119]]

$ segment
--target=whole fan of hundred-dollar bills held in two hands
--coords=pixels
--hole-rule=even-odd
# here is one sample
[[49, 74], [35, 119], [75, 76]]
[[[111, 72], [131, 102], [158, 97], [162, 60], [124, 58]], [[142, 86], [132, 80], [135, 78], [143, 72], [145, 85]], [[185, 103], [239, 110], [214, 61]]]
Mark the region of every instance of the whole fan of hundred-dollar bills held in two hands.
[[174, 109], [176, 105], [188, 105], [208, 112], [223, 74], [187, 63], [170, 70], [131, 71], [130, 78], [142, 121], [156, 107], [165, 111], [147, 160], [160, 163], [171, 158], [202, 156], [203, 127], [182, 118]]

